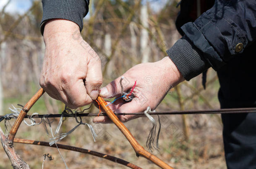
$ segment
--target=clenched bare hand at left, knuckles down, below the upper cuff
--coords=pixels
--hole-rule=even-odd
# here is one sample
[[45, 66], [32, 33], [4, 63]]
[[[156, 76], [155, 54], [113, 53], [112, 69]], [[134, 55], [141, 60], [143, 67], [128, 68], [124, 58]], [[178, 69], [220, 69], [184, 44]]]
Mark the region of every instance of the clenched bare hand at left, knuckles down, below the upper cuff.
[[50, 20], [44, 28], [46, 50], [39, 80], [52, 98], [70, 108], [88, 105], [102, 85], [101, 61], [76, 23]]

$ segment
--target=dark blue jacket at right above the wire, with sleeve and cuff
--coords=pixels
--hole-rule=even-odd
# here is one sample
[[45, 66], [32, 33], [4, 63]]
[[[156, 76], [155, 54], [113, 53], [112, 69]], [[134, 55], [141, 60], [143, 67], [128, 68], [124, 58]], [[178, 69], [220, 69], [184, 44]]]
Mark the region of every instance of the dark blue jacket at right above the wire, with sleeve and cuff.
[[[181, 5], [187, 2], [191, 0]], [[179, 24], [189, 18], [190, 8], [184, 12], [183, 6], [187, 16], [179, 16]], [[222, 108], [256, 106], [256, 0], [215, 0], [212, 8], [178, 30], [185, 36], [167, 53], [186, 80], [211, 66], [219, 76]]]

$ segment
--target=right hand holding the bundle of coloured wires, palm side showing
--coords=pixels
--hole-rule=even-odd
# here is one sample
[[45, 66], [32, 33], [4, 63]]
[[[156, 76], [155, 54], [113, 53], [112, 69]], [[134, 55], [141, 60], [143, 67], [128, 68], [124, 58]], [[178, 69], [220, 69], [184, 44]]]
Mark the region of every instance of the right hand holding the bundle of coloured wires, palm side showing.
[[[134, 98], [127, 103], [119, 98], [110, 104], [110, 108], [116, 113], [136, 113], [145, 111], [148, 106], [151, 110], [157, 108], [159, 103], [165, 97], [170, 88], [176, 86], [184, 80], [178, 71], [178, 68], [169, 57], [163, 58], [155, 63], [142, 63], [129, 69], [123, 74], [124, 91], [133, 87], [134, 81], [137, 81], [134, 88]], [[119, 78], [100, 89], [99, 95], [104, 98], [120, 97], [121, 86]], [[108, 102], [110, 103], [110, 102]], [[118, 116], [120, 121], [126, 122], [139, 116], [126, 115]], [[94, 123], [110, 123], [107, 116], [94, 117]]]

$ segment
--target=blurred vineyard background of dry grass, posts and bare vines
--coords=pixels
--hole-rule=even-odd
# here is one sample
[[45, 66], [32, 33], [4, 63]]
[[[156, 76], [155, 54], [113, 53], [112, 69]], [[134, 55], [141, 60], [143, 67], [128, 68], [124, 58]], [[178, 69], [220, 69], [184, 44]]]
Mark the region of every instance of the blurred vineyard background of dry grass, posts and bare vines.
[[[31, 2], [24, 13], [9, 13], [5, 9], [12, 0], [1, 0], [0, 8], [0, 113], [11, 113], [12, 104], [24, 105], [39, 89], [39, 74], [44, 57], [44, 41], [40, 33], [41, 1]], [[21, 1], [22, 2], [22, 1]], [[21, 3], [20, 2], [20, 3]], [[102, 60], [104, 85], [121, 76], [141, 62], [162, 59], [180, 35], [175, 28], [178, 0], [91, 0], [89, 14], [81, 32]], [[145, 75], [146, 76], [146, 75]], [[158, 106], [157, 111], [196, 110], [219, 108], [216, 73], [209, 69], [206, 90], [201, 75], [173, 88]], [[34, 105], [30, 113], [58, 114], [63, 103], [47, 94]], [[88, 112], [97, 113], [97, 108]], [[154, 116], [157, 118], [157, 116]], [[83, 118], [92, 124], [92, 118]], [[225, 169], [222, 143], [222, 122], [219, 115], [160, 116], [159, 158], [177, 169]], [[14, 120], [10, 121], [13, 124]], [[52, 124], [55, 129], [58, 119]], [[113, 124], [92, 124], [98, 134], [94, 143], [87, 127], [80, 126], [60, 143], [78, 146], [120, 157], [144, 169], [157, 166], [137, 158], [128, 141]], [[148, 119], [140, 118], [125, 124], [139, 143], [146, 146], [151, 129]], [[4, 129], [4, 123], [0, 124]], [[10, 126], [8, 125], [8, 129]], [[61, 132], [76, 126], [74, 119], [63, 122]], [[16, 138], [49, 141], [43, 126], [21, 124]], [[56, 149], [34, 145], [15, 144], [18, 154], [31, 168], [42, 168], [43, 154], [55, 159], [46, 160], [44, 169], [64, 168]], [[121, 169], [123, 166], [94, 156], [60, 150], [70, 169]], [[9, 159], [0, 148], [0, 169], [10, 169]]]

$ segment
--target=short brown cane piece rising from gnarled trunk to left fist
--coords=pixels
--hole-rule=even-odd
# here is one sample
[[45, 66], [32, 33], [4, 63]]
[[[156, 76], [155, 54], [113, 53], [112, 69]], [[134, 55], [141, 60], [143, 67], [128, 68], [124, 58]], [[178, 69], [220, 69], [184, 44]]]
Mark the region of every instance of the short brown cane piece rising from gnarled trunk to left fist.
[[16, 119], [15, 123], [13, 124], [13, 127], [10, 129], [10, 133], [8, 135], [8, 140], [10, 142], [13, 142], [13, 139], [18, 131], [19, 126], [21, 125], [21, 122], [23, 121], [24, 117], [30, 110], [30, 108], [34, 105], [34, 103], [37, 102], [37, 100], [44, 94], [44, 90], [42, 88], [37, 91], [37, 93], [29, 100], [28, 103], [22, 108], [21, 113], [18, 115], [18, 118]]

